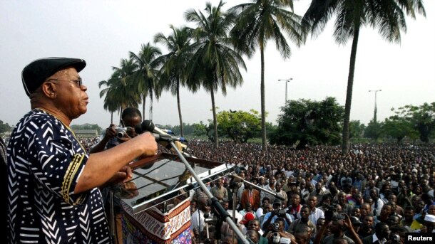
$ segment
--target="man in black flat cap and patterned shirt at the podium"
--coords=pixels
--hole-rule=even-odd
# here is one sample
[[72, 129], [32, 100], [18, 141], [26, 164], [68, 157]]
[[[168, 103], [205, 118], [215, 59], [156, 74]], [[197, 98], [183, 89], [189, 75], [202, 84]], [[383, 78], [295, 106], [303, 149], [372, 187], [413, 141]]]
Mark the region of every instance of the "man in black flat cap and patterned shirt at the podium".
[[157, 152], [154, 137], [144, 133], [86, 153], [69, 127], [87, 110], [78, 75], [85, 66], [82, 59], [41, 58], [22, 72], [31, 111], [7, 148], [9, 243], [110, 243], [98, 186], [131, 179], [127, 164]]

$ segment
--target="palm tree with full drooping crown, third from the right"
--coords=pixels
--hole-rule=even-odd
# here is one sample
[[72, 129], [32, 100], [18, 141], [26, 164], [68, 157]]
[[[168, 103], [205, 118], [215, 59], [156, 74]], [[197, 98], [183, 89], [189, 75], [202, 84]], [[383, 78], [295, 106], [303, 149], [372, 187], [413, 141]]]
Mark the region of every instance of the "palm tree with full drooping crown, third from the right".
[[[242, 56], [230, 45], [227, 33], [234, 23], [235, 15], [222, 11], [222, 1], [213, 7], [205, 5], [206, 16], [201, 11], [190, 9], [185, 17], [198, 26], [194, 31], [195, 43], [192, 44], [193, 55], [188, 67], [188, 85], [195, 90], [198, 84], [210, 92], [213, 110], [214, 144], [218, 148], [218, 122], [216, 120], [215, 92], [218, 88], [226, 95], [227, 86], [237, 87], [243, 79], [239, 66], [246, 70]], [[198, 83], [198, 81], [200, 83]]]

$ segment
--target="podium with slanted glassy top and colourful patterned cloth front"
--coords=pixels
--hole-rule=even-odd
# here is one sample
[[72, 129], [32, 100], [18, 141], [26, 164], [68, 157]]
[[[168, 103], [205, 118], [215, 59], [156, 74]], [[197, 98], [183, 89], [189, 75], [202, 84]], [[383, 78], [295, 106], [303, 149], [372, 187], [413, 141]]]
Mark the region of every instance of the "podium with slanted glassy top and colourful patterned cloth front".
[[[204, 184], [232, 174], [233, 167], [185, 157]], [[116, 192], [123, 206], [124, 243], [191, 243], [190, 191], [198, 189], [174, 154], [132, 163], [133, 179]]]

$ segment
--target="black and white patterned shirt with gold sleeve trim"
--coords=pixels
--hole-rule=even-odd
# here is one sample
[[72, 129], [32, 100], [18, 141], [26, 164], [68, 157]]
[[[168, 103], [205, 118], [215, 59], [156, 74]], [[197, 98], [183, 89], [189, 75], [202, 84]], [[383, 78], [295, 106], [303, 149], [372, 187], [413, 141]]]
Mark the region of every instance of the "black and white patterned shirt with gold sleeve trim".
[[9, 243], [110, 243], [101, 193], [74, 193], [89, 155], [71, 129], [31, 110], [11, 134]]

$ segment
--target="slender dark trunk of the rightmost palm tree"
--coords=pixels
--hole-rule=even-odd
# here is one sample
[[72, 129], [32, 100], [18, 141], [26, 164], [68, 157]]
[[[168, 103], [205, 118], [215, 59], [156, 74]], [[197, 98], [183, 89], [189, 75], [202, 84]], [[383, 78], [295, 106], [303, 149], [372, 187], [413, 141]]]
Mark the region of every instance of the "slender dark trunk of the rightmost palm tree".
[[352, 41], [352, 49], [350, 51], [349, 76], [347, 77], [347, 92], [346, 104], [344, 105], [344, 122], [342, 134], [342, 153], [349, 152], [349, 120], [350, 120], [350, 105], [352, 104], [352, 89], [354, 86], [355, 62], [357, 59], [357, 46], [359, 37], [359, 25], [355, 24], [354, 39]]

